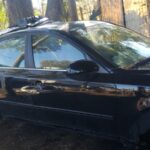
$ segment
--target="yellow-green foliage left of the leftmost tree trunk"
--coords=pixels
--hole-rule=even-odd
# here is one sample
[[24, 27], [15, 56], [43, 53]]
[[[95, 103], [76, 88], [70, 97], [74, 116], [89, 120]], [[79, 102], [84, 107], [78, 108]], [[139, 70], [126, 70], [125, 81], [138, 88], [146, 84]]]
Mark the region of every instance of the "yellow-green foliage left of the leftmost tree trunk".
[[4, 3], [0, 0], [0, 30], [7, 28], [8, 26], [8, 18], [6, 15], [6, 9], [4, 7]]

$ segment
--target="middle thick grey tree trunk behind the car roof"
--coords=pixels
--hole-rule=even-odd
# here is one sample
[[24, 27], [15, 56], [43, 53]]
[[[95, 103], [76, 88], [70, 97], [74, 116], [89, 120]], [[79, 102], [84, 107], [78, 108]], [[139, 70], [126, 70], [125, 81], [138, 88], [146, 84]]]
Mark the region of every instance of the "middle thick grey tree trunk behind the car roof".
[[63, 16], [62, 0], [48, 0], [46, 17], [53, 21], [61, 21]]

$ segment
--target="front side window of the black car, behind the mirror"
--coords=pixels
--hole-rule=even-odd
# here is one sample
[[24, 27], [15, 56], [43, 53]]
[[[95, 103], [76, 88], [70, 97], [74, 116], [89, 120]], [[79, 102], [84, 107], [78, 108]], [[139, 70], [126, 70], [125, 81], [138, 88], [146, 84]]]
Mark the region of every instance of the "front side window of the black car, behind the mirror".
[[78, 48], [54, 35], [33, 35], [32, 49], [39, 69], [64, 70], [74, 61], [86, 59]]

